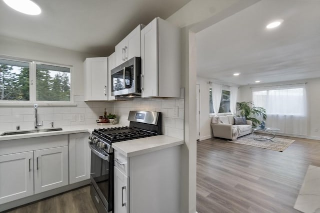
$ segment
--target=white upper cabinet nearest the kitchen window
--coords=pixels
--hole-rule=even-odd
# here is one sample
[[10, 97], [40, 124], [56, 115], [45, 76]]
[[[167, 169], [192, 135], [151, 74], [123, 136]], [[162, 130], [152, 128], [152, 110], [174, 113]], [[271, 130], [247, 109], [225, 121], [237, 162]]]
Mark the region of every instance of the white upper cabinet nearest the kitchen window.
[[86, 58], [83, 64], [84, 71], [84, 100], [108, 100], [108, 58]]

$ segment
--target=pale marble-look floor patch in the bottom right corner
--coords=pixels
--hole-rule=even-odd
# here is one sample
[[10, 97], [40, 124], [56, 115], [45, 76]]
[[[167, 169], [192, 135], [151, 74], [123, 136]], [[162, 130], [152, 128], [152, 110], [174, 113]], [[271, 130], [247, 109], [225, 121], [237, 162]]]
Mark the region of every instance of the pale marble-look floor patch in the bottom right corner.
[[320, 167], [309, 165], [293, 208], [303, 213], [320, 212]]

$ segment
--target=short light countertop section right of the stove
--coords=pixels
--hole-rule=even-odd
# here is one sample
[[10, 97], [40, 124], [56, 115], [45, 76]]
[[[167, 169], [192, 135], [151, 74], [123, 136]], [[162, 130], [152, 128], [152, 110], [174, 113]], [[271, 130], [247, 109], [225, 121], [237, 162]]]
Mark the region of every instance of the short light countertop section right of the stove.
[[133, 157], [173, 146], [182, 145], [183, 143], [183, 139], [173, 138], [166, 135], [157, 135], [113, 143], [112, 148], [126, 157]]

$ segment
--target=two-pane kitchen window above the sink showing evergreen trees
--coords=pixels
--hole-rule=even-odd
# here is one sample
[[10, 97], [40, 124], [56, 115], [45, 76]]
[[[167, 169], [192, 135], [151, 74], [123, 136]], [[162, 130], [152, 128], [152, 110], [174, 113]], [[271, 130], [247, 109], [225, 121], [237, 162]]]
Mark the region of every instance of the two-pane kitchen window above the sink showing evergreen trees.
[[71, 67], [0, 58], [0, 101], [71, 103]]

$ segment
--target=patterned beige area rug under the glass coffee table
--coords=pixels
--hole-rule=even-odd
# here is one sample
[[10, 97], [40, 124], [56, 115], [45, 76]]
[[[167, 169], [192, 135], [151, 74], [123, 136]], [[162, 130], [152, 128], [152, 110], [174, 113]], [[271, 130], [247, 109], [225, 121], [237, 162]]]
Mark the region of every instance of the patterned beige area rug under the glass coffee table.
[[283, 152], [288, 146], [290, 146], [294, 140], [285, 138], [273, 138], [272, 141], [256, 141], [253, 139], [253, 135], [245, 135], [236, 139], [236, 141], [229, 141], [237, 144], [245, 144], [253, 147], [260, 147], [264, 149], [270, 149], [274, 151]]

